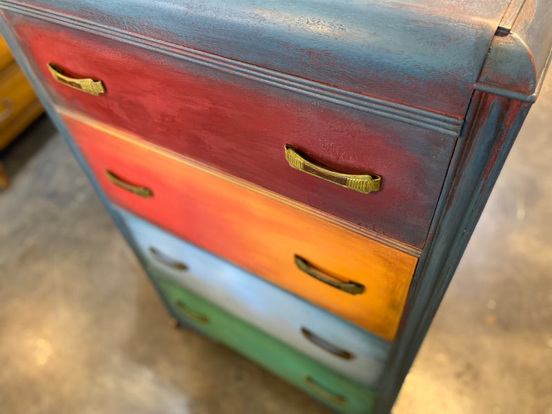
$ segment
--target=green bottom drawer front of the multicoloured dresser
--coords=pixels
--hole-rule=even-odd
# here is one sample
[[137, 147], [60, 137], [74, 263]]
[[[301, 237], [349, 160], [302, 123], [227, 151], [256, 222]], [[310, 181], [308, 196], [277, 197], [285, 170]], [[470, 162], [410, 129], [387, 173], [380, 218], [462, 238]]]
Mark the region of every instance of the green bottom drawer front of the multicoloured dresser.
[[371, 413], [375, 394], [158, 275], [172, 313], [340, 413]]

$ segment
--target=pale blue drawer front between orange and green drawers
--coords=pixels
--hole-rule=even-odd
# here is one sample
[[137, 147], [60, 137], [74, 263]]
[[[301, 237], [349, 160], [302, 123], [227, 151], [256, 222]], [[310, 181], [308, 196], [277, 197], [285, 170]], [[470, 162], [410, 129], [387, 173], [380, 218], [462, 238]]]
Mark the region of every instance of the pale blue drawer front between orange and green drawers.
[[376, 386], [388, 342], [114, 208], [156, 273], [342, 375]]

